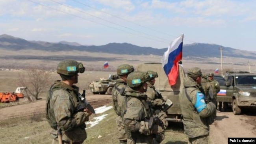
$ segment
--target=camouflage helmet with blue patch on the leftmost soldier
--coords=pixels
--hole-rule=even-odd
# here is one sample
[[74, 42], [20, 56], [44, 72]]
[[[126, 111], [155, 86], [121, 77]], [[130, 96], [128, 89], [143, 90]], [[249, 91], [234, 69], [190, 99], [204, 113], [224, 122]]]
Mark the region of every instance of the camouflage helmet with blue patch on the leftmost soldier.
[[65, 76], [74, 76], [78, 72], [83, 73], [84, 71], [85, 67], [82, 63], [70, 59], [61, 61], [57, 66], [57, 73]]

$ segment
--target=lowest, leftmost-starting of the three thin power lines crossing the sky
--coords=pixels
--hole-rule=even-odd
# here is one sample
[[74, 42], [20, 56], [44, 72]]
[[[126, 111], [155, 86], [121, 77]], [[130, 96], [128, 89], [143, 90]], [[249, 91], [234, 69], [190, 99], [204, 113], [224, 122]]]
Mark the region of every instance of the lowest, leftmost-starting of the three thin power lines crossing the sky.
[[[50, 8], [50, 9], [54, 9], [54, 10], [56, 10], [56, 11], [60, 11], [60, 12], [62, 12], [62, 13], [66, 13], [66, 14], [68, 14], [68, 15], [72, 15], [72, 16], [74, 16], [74, 17], [78, 17], [78, 18], [81, 18], [81, 19], [84, 19], [84, 20], [88, 20], [88, 21], [93, 22], [93, 23], [96, 23], [96, 24], [100, 24], [100, 25], [102, 25], [102, 26], [106, 26], [106, 27], [108, 27], [108, 28], [112, 28], [112, 29], [115, 29], [115, 30], [119, 30], [119, 31], [123, 31], [123, 32], [126, 32], [126, 33], [130, 33], [130, 34], [136, 35], [136, 36], [138, 36], [138, 37], [143, 37], [143, 38], [146, 38], [146, 39], [151, 39], [151, 40], [154, 40], [154, 41], [163, 42], [163, 41], [159, 41], [159, 40], [152, 39], [152, 38], [149, 38], [149, 37], [144, 37], [144, 36], [142, 36], [142, 35], [137, 35], [137, 34], [135, 34], [135, 33], [131, 33], [131, 32], [128, 32], [128, 31], [124, 31], [124, 30], [121, 30], [121, 29], [118, 29], [118, 28], [114, 28], [114, 27], [111, 27], [111, 26], [108, 26], [108, 25], [105, 25], [105, 24], [101, 24], [101, 23], [99, 23], [99, 22], [95, 22], [95, 21], [89, 20], [89, 19], [87, 19], [87, 18], [83, 18], [83, 17], [77, 16], [77, 15], [74, 15], [74, 14], [71, 14], [71, 13], [67, 13], [67, 12], [65, 12], [65, 11], [61, 11], [61, 10], [59, 10], [59, 9], [55, 9], [55, 8], [53, 8], [53, 7], [49, 7], [49, 6], [46, 6], [46, 5], [43, 5], [43, 4], [34, 2], [34, 1], [32, 1], [32, 0], [28, 0], [28, 1], [33, 2], [33, 3], [35, 3], [35, 4], [39, 4], [39, 5], [44, 6], [44, 7], [48, 7], [48, 8]], [[163, 42], [163, 43], [166, 43], [166, 42]]]

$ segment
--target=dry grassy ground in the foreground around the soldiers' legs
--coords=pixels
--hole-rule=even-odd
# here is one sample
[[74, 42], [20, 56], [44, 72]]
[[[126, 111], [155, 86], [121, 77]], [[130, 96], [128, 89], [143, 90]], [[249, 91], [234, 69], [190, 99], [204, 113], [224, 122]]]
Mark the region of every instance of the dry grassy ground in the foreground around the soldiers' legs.
[[[111, 105], [111, 104], [109, 104]], [[102, 114], [108, 114], [106, 118], [87, 131], [87, 139], [83, 144], [117, 144], [118, 132], [115, 124], [116, 114], [110, 109]], [[94, 116], [100, 116], [96, 114]], [[92, 120], [92, 118], [90, 118]], [[178, 125], [171, 124], [172, 127]], [[178, 129], [178, 130], [177, 130]], [[162, 144], [186, 144], [187, 138], [180, 133], [181, 127], [175, 130], [168, 130], [165, 133], [165, 140]], [[0, 122], [1, 144], [50, 144], [52, 138], [49, 134], [50, 126], [44, 118], [44, 114], [20, 117]], [[101, 136], [100, 138], [98, 138]]]

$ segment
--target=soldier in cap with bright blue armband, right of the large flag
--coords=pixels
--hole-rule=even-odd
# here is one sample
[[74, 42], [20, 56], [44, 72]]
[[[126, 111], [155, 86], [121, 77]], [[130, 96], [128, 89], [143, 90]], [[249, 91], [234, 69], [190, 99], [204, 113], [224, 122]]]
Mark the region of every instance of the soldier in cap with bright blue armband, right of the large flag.
[[205, 103], [204, 94], [199, 89], [201, 80], [200, 68], [189, 69], [184, 79], [184, 89], [179, 94], [188, 144], [208, 144], [209, 124], [214, 121], [216, 106], [212, 102]]

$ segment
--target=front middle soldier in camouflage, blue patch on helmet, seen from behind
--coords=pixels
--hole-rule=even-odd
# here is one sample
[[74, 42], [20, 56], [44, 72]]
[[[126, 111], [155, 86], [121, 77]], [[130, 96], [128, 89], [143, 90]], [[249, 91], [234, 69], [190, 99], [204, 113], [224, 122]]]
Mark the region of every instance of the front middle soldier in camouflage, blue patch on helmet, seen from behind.
[[147, 72], [132, 72], [127, 78], [126, 99], [122, 105], [123, 123], [127, 133], [127, 144], [154, 144], [154, 134], [163, 133], [163, 127], [149, 125], [154, 112], [147, 103]]

